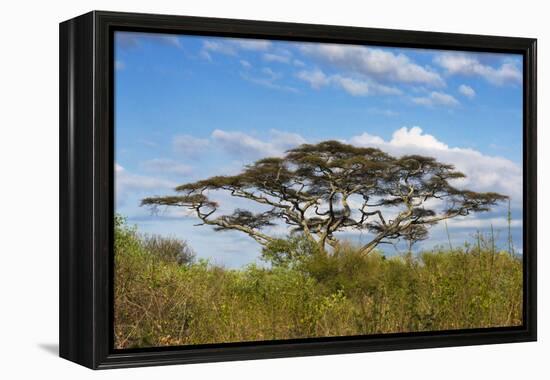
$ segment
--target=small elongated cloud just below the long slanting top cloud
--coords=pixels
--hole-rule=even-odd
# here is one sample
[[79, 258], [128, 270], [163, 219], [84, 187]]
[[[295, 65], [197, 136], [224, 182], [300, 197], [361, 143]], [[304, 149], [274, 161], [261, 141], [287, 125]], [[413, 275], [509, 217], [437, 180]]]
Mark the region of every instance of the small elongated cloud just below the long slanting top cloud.
[[401, 94], [401, 91], [395, 87], [384, 86], [372, 81], [346, 77], [339, 74], [326, 75], [319, 69], [299, 71], [296, 77], [307, 82], [313, 89], [318, 90], [323, 86], [333, 85], [353, 96]]

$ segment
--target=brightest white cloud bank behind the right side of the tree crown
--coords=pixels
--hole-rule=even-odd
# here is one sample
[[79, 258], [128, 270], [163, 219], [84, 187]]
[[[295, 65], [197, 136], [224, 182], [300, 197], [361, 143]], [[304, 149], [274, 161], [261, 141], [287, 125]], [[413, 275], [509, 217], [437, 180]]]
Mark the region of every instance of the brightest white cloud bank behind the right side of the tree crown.
[[474, 191], [496, 191], [512, 198], [521, 206], [522, 169], [521, 166], [503, 157], [488, 156], [470, 148], [449, 147], [420, 127], [402, 127], [396, 130], [391, 140], [386, 141], [368, 133], [352, 137], [349, 142], [359, 146], [377, 147], [389, 154], [421, 154], [435, 157], [440, 162], [455, 165], [466, 178], [456, 182]]

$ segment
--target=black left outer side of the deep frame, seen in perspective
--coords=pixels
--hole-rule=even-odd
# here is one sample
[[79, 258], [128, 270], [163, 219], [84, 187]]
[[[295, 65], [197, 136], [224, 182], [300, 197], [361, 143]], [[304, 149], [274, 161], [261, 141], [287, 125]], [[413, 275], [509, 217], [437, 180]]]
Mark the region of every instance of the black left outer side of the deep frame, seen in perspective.
[[60, 24], [59, 356], [94, 367], [92, 13]]

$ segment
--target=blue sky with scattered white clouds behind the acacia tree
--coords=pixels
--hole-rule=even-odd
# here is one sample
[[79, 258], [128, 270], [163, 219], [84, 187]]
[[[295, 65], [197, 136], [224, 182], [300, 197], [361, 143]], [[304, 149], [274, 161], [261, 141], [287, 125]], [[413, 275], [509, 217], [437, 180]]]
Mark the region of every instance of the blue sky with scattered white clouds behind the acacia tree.
[[[461, 186], [511, 196], [520, 248], [521, 73], [519, 55], [117, 32], [116, 212], [217, 264], [256, 262], [260, 247], [246, 235], [195, 227], [182, 211], [151, 214], [139, 201], [338, 139], [434, 156], [467, 175]], [[212, 196], [228, 211], [247, 206]], [[449, 221], [451, 238], [460, 244], [493, 225], [502, 243], [505, 214], [501, 206]], [[446, 241], [436, 226], [419, 248]]]

